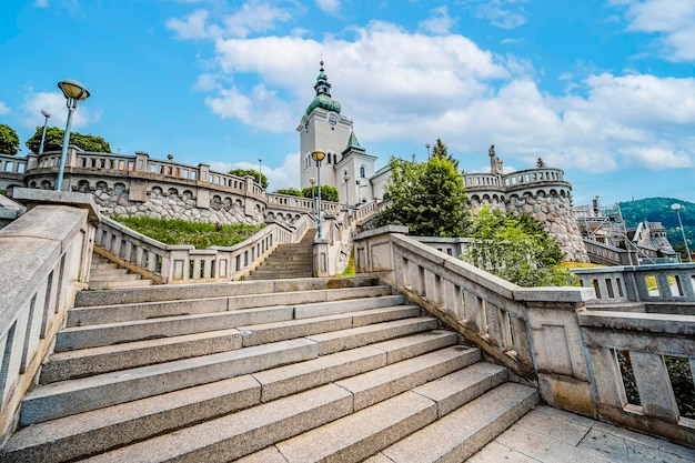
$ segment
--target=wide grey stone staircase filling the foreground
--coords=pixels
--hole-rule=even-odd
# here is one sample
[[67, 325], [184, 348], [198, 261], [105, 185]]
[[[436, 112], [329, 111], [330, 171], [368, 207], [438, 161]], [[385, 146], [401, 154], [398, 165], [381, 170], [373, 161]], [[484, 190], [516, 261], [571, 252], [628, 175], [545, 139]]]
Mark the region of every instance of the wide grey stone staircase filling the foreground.
[[462, 462], [538, 401], [367, 278], [78, 294], [17, 462]]

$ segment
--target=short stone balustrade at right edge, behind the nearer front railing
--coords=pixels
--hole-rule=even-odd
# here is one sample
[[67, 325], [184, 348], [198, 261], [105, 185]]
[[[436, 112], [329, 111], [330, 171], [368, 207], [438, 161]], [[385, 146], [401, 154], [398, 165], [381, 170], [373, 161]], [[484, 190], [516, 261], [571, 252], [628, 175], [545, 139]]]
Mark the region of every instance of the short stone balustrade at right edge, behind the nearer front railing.
[[[639, 302], [695, 305], [695, 263], [572, 269], [582, 286], [593, 288], [593, 303]], [[682, 305], [684, 306], [684, 305]]]

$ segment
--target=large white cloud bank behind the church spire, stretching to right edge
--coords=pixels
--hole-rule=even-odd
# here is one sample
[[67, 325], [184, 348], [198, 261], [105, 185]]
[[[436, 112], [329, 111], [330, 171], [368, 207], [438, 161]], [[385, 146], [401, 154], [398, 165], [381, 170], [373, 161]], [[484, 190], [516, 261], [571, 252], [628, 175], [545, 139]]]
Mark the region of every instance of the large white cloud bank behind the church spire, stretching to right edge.
[[530, 60], [495, 56], [461, 34], [412, 33], [379, 21], [349, 32], [323, 42], [219, 39], [216, 68], [198, 87], [222, 118], [290, 132], [314, 95], [323, 54], [332, 95], [367, 151], [442, 138], [454, 155], [477, 158], [495, 144], [506, 165], [533, 165], [537, 157], [590, 172], [695, 165], [695, 79], [564, 76], [568, 93], [553, 95], [538, 89]]

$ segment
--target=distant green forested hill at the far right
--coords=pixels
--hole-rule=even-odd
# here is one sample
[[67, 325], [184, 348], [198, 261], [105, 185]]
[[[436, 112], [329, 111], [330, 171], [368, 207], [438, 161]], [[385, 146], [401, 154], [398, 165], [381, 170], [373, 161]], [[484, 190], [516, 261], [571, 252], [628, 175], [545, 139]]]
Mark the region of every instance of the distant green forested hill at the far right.
[[[683, 230], [691, 249], [695, 245], [695, 203], [682, 201], [674, 198], [647, 198], [637, 201], [621, 202], [621, 213], [625, 221], [625, 227], [634, 229], [642, 221], [662, 222], [668, 231], [667, 236], [671, 245], [678, 251], [685, 251], [683, 234], [678, 229], [678, 217], [676, 211], [671, 209], [674, 203], [681, 204], [681, 220]], [[683, 254], [685, 258], [685, 253]]]

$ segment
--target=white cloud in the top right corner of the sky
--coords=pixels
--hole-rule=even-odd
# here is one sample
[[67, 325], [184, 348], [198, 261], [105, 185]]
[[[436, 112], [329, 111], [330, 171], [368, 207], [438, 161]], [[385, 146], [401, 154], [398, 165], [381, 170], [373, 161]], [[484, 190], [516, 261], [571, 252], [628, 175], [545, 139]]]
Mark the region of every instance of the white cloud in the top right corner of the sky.
[[695, 1], [626, 0], [617, 6], [627, 7], [628, 30], [659, 34], [669, 60], [695, 60]]

